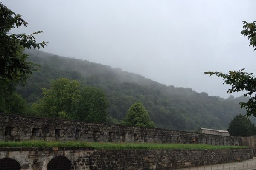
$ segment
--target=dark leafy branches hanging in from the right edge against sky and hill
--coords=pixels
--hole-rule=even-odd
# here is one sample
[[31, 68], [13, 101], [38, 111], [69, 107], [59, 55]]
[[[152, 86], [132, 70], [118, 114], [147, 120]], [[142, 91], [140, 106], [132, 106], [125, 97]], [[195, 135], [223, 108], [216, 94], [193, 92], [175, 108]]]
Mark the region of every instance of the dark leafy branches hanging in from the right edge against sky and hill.
[[[250, 41], [249, 46], [256, 47], [256, 21], [253, 23], [248, 23], [244, 21], [244, 30], [241, 34], [248, 36]], [[256, 48], [254, 48], [254, 51]], [[247, 102], [239, 102], [241, 108], [246, 109], [247, 116], [256, 117], [256, 78], [253, 73], [244, 72], [244, 68], [239, 71], [229, 71], [228, 74], [223, 74], [221, 72], [205, 72], [204, 74], [209, 74], [210, 76], [216, 75], [222, 77], [224, 80], [223, 84], [231, 85], [231, 88], [227, 90], [227, 94], [231, 94], [237, 91], [246, 91], [244, 96], [249, 96], [250, 99]]]

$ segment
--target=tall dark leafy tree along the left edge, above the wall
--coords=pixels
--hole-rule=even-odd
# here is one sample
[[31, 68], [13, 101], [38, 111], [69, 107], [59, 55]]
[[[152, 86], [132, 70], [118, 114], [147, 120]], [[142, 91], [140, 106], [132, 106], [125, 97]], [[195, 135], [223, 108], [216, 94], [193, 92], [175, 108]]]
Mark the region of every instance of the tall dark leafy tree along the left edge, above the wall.
[[47, 42], [36, 43], [34, 34], [10, 34], [12, 28], [27, 26], [28, 23], [0, 2], [0, 112], [27, 112], [26, 101], [15, 92], [19, 82], [25, 82], [34, 63], [26, 62], [24, 48], [44, 47]]

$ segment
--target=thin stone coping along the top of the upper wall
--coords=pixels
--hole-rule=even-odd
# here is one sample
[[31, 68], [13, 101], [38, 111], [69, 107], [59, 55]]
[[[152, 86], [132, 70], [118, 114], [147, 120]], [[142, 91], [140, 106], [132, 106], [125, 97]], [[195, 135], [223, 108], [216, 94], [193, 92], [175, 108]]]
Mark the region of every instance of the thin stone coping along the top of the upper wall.
[[[120, 125], [120, 124], [111, 124], [111, 123], [100, 123], [100, 122], [86, 122], [86, 121], [81, 121], [81, 120], [58, 119], [58, 118], [49, 118], [49, 117], [41, 117], [41, 116], [27, 116], [27, 115], [9, 114], [9, 113], [0, 113], [0, 115], [18, 116], [18, 117], [31, 118], [31, 119], [48, 119], [48, 120], [68, 121], [68, 122], [84, 122], [84, 123], [93, 123], [93, 124], [102, 124], [102, 125], [113, 125], [113, 126], [122, 126], [122, 127], [136, 127], [136, 128], [141, 128], [141, 129], [166, 130], [166, 131], [183, 132], [183, 133], [195, 133], [195, 134], [201, 134], [201, 135], [205, 134], [205, 133], [189, 132], [189, 131], [183, 131], [183, 130], [171, 130], [171, 129], [163, 129], [163, 128], [155, 128], [155, 127], [129, 126], [129, 125]], [[215, 135], [215, 134], [205, 134], [205, 135], [220, 136], [220, 135]], [[227, 136], [227, 137], [229, 137], [229, 136]]]

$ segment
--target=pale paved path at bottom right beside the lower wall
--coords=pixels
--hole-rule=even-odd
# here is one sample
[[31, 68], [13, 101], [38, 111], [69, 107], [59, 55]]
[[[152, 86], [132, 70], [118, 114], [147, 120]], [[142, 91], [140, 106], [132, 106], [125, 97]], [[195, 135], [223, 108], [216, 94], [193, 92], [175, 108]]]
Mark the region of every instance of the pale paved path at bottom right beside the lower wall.
[[256, 170], [256, 157], [242, 162], [182, 168], [181, 170]]

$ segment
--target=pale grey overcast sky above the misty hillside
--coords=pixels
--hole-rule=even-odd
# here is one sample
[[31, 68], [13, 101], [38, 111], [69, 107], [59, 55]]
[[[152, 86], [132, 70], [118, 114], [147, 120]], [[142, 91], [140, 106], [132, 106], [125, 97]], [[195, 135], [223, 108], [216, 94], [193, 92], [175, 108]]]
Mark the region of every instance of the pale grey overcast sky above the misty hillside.
[[[2, 0], [29, 25], [14, 32], [49, 42], [42, 51], [121, 68], [157, 82], [227, 98], [204, 71], [255, 73], [240, 34], [256, 0]], [[240, 96], [233, 94], [233, 96]]]

